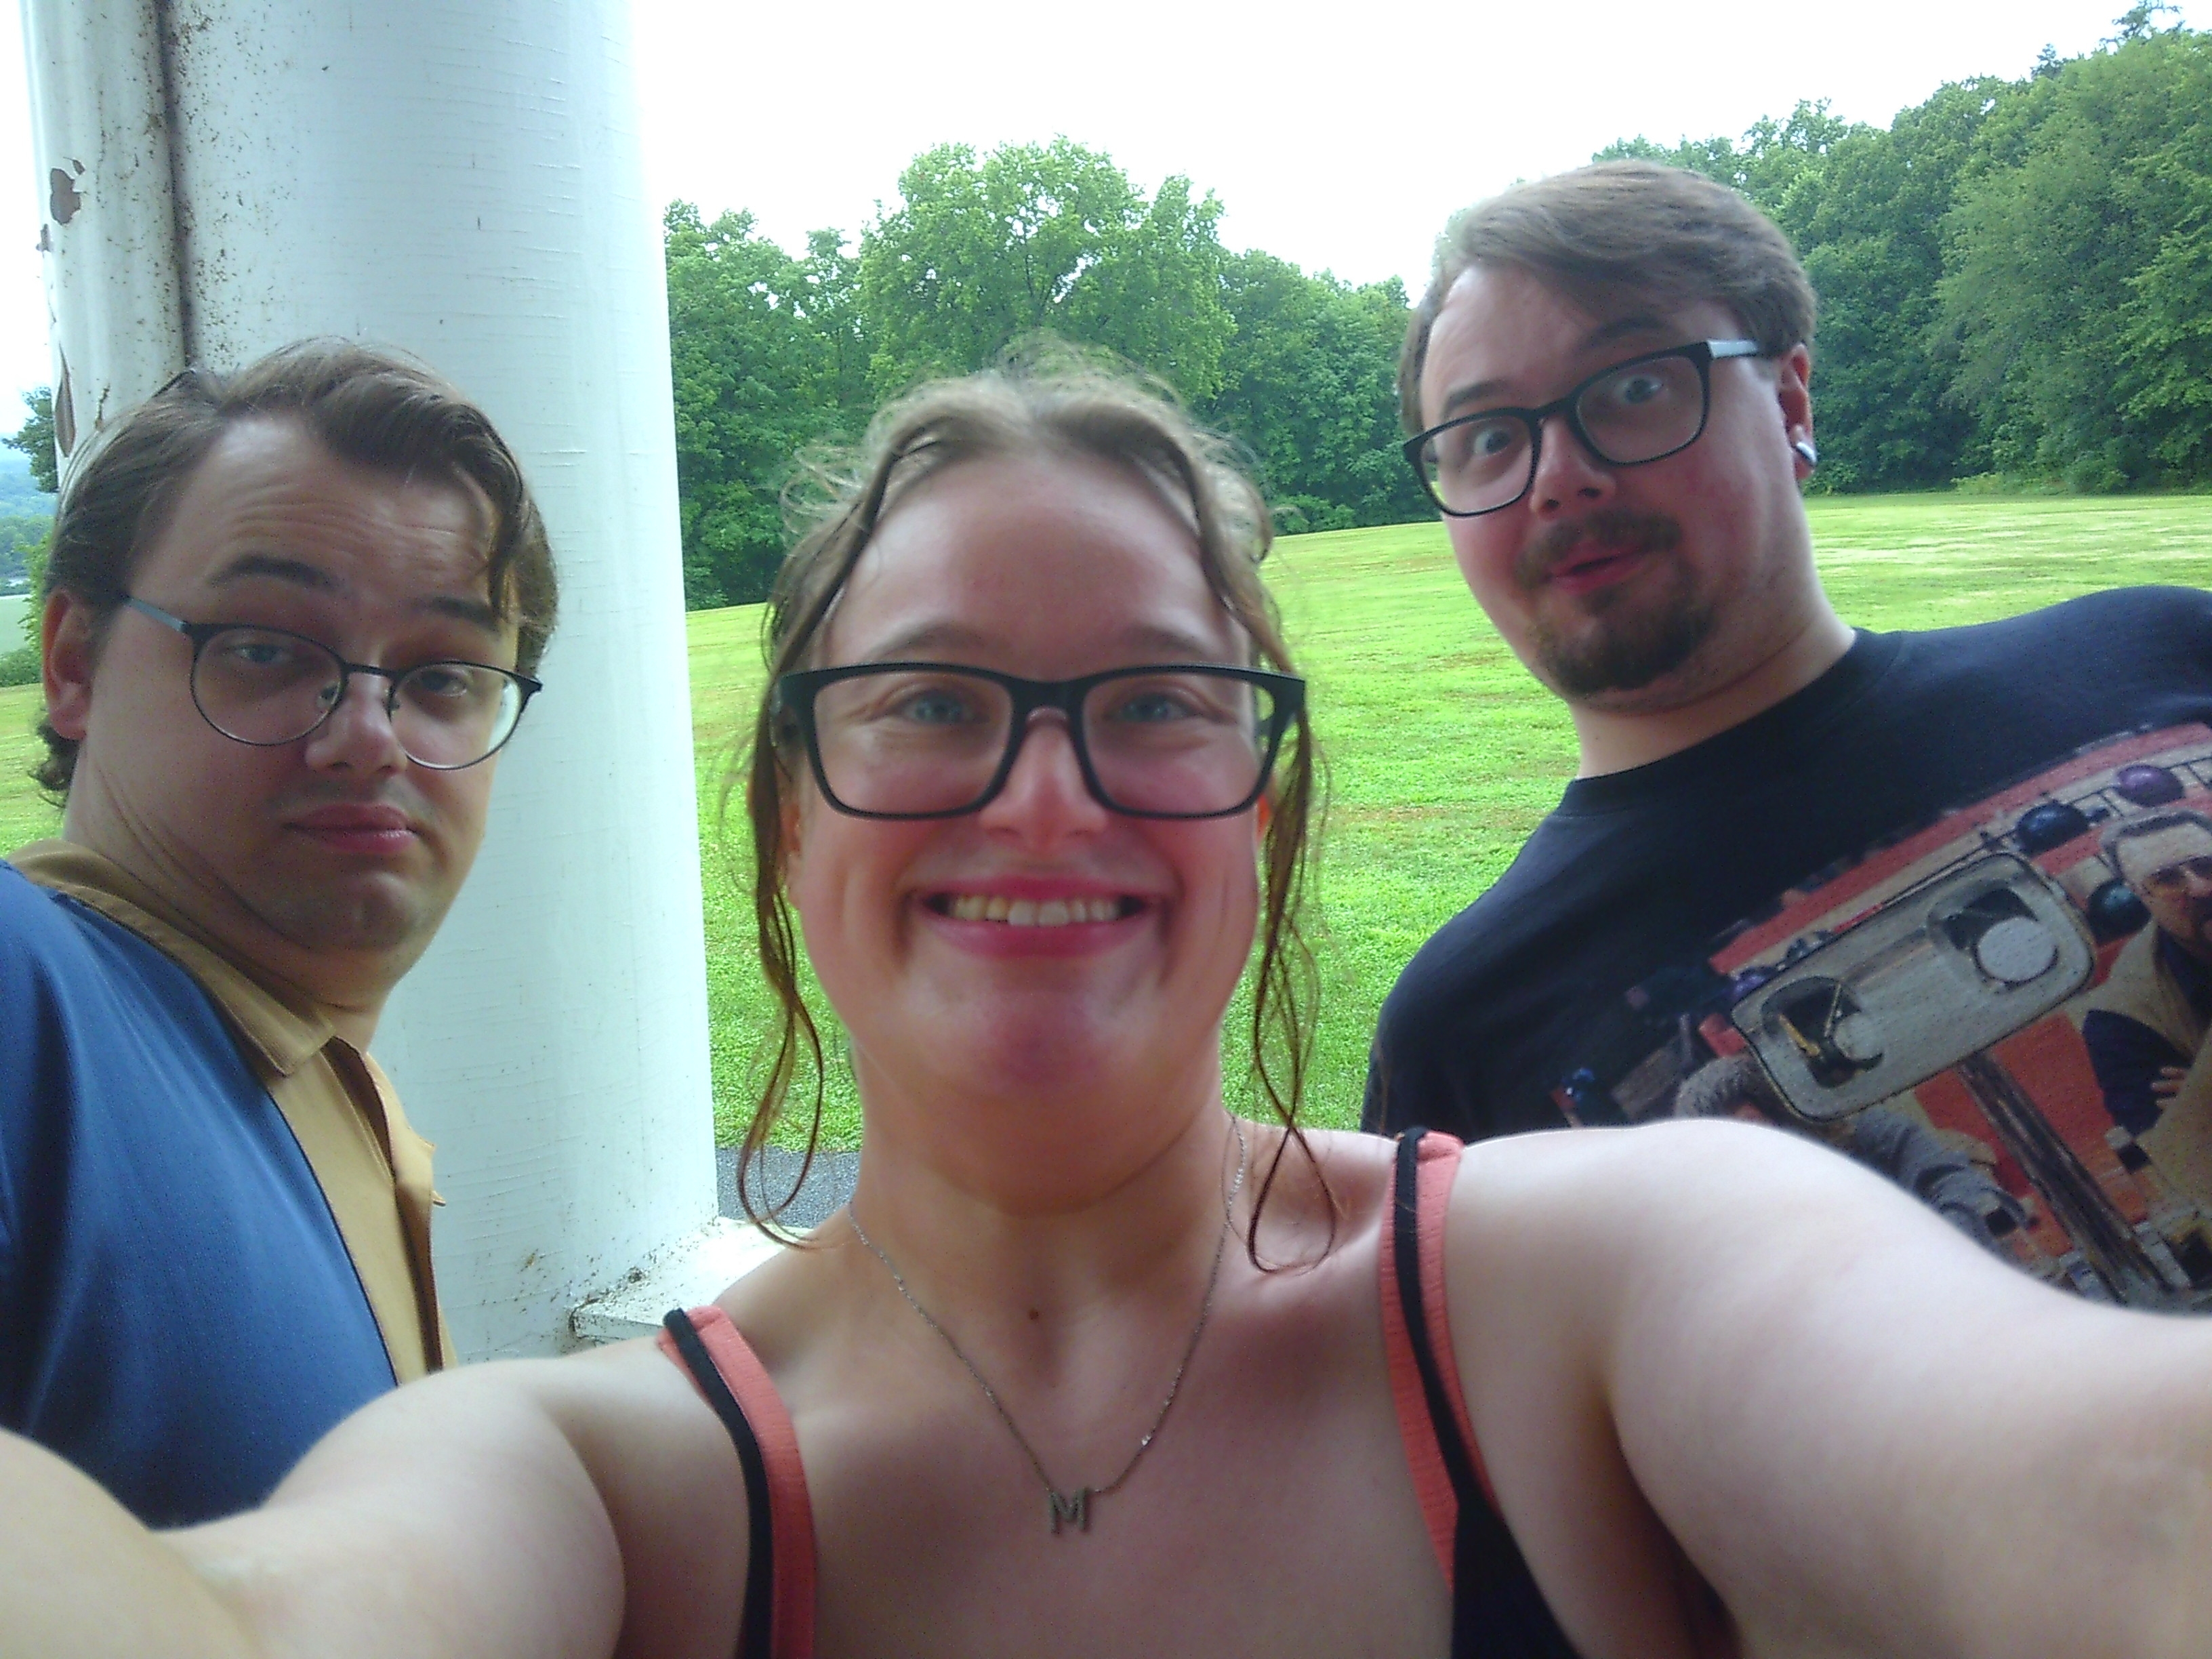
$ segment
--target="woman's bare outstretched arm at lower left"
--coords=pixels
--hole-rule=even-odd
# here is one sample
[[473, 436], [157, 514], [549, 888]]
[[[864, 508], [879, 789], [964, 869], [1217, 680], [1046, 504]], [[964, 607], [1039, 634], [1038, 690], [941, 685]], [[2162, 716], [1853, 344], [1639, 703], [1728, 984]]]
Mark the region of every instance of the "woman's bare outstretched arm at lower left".
[[728, 1659], [743, 1597], [737, 1453], [650, 1343], [396, 1389], [184, 1533], [24, 1440], [0, 1493], [29, 1659]]

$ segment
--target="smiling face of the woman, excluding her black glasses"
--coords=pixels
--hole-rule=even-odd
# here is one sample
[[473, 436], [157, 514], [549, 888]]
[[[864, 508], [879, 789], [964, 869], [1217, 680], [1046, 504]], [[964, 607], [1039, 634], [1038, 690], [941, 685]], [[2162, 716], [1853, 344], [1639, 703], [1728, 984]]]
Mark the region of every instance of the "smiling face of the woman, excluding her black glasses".
[[[916, 484], [814, 655], [1026, 679], [1245, 659], [1190, 522], [1135, 471], [1077, 456], [964, 460]], [[978, 812], [852, 818], [807, 779], [785, 834], [807, 956], [872, 1104], [887, 1088], [1183, 1093], [1179, 1073], [1219, 1066], [1259, 909], [1252, 812], [1108, 812], [1062, 717], [1040, 712]]]

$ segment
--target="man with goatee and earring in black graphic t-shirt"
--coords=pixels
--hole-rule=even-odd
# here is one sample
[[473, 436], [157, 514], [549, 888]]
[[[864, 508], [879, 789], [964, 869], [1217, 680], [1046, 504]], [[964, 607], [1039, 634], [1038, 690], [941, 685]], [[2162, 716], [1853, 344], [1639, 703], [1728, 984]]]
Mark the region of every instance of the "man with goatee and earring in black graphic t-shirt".
[[2203, 1305], [2212, 1217], [2121, 1166], [2077, 1024], [2141, 925], [2099, 825], [2212, 790], [2212, 597], [1854, 633], [1801, 504], [1812, 336], [1787, 239], [1672, 168], [1542, 179], [1444, 232], [1407, 460], [1582, 757], [1391, 991], [1367, 1124], [1635, 1124], [1756, 1077], [1829, 1141], [1880, 1108], [1971, 1159], [2024, 1267]]

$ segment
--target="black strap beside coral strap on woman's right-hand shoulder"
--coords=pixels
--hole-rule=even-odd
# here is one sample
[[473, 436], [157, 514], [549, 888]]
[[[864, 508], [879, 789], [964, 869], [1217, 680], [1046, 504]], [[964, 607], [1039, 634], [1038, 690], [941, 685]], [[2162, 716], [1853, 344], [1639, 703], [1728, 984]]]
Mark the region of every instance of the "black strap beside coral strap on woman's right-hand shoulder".
[[1391, 1265], [1436, 1449], [1460, 1502], [1460, 1524], [1451, 1537], [1451, 1659], [1575, 1659], [1520, 1544], [1475, 1478], [1475, 1453], [1460, 1433], [1460, 1413], [1436, 1363], [1429, 1307], [1420, 1294], [1420, 1141], [1427, 1133], [1409, 1128], [1398, 1137]]

